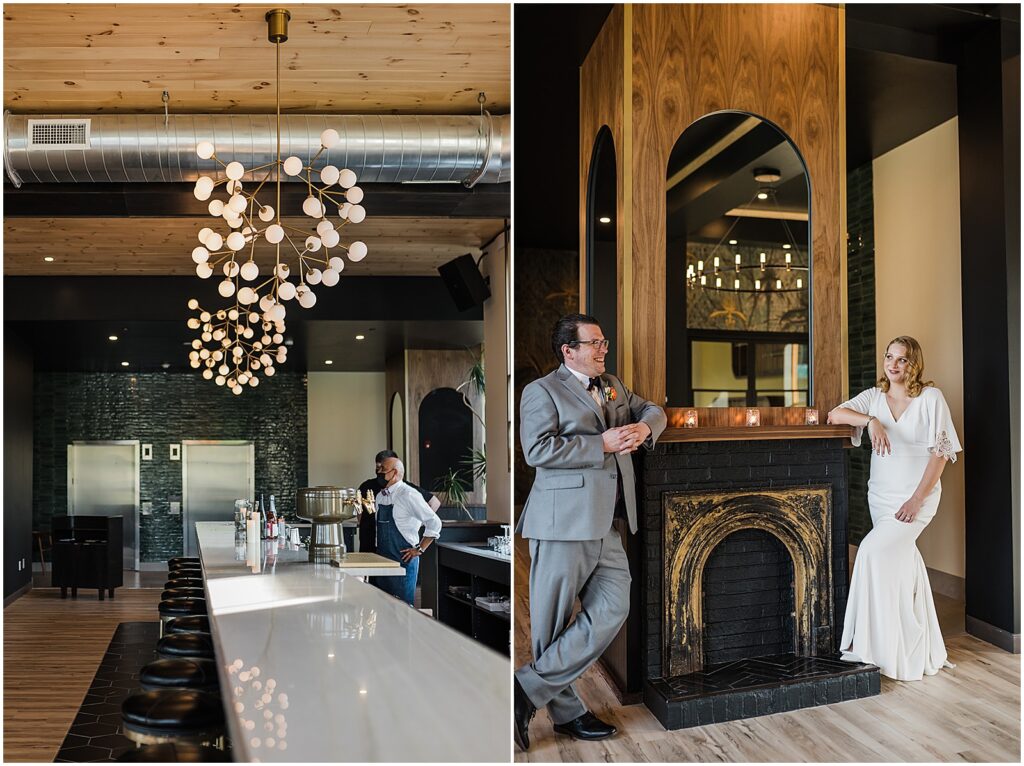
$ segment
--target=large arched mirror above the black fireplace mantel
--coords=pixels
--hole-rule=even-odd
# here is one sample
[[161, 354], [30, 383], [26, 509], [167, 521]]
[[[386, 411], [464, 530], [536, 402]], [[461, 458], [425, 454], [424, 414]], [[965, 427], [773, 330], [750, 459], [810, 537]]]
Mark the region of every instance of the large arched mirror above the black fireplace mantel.
[[666, 173], [670, 407], [806, 407], [810, 184], [774, 125], [708, 115]]

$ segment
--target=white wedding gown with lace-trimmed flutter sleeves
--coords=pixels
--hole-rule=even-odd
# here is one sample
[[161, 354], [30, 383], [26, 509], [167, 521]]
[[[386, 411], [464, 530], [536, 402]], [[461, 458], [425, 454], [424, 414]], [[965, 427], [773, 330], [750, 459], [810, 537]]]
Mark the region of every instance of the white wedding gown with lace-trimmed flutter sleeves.
[[[871, 453], [867, 503], [873, 528], [861, 541], [853, 565], [842, 658], [877, 665], [897, 681], [920, 681], [946, 664], [928, 571], [915, 544], [939, 507], [941, 481], [912, 522], [898, 521], [896, 512], [918, 488], [931, 456], [955, 462], [959, 440], [942, 392], [932, 386], [911, 399], [899, 421], [880, 388], [869, 388], [840, 407], [873, 415], [892, 444], [892, 454]], [[862, 431], [856, 430], [855, 446]]]

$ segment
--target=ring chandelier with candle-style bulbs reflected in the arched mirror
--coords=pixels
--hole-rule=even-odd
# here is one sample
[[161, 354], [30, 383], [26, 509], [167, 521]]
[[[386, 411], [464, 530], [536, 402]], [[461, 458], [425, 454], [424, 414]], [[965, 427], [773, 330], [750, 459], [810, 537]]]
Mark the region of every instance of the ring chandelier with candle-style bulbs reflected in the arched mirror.
[[[759, 186], [750, 204], [767, 202], [781, 213], [776, 187], [780, 178], [775, 168], [757, 168], [754, 180]], [[803, 292], [808, 265], [801, 262], [800, 247], [786, 218], [779, 215], [777, 220], [785, 239], [781, 248], [743, 246], [749, 251], [744, 256], [738, 252], [739, 242], [732, 237], [739, 222], [739, 217], [734, 217], [707, 258], [687, 253], [686, 286], [732, 293]]]

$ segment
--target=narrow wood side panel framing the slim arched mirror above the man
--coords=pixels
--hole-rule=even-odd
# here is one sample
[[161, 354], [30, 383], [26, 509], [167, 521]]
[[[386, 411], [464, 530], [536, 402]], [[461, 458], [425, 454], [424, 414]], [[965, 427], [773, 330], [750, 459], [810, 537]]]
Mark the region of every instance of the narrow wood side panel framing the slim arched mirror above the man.
[[[615, 148], [615, 252], [618, 273], [618, 304], [616, 306], [616, 327], [618, 337], [614, 338], [614, 351], [621, 377], [629, 383], [623, 351], [625, 343], [623, 329], [626, 326], [623, 314], [623, 255], [626, 221], [624, 220], [624, 179], [623, 167], [623, 62], [624, 62], [624, 8], [616, 5], [608, 15], [604, 27], [594, 41], [587, 60], [584, 61], [580, 77], [580, 310], [586, 312], [587, 305], [587, 181], [590, 164], [594, 158], [594, 143], [601, 128], [611, 131]], [[598, 317], [600, 318], [600, 317]]]

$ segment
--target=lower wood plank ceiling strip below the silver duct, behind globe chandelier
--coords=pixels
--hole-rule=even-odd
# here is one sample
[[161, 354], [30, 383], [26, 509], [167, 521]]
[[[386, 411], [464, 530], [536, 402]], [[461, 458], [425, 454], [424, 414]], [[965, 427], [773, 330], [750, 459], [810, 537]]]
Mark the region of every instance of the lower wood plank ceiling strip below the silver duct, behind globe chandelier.
[[[309, 218], [286, 219], [308, 228]], [[26, 275], [182, 275], [196, 273], [191, 251], [204, 226], [226, 233], [215, 219], [197, 218], [8, 218], [4, 221], [3, 272]], [[358, 263], [346, 258], [342, 279], [359, 276], [436, 276], [437, 266], [480, 246], [501, 231], [504, 221], [492, 218], [373, 218], [339, 229], [342, 244], [367, 243], [369, 253]], [[299, 244], [296, 241], [296, 244]], [[344, 256], [337, 249], [334, 255]], [[294, 252], [283, 259], [294, 264]], [[240, 261], [248, 260], [248, 254]], [[322, 250], [317, 257], [323, 257]], [[52, 256], [52, 262], [43, 260]], [[274, 248], [256, 248], [261, 272], [270, 272]], [[211, 280], [217, 279], [219, 270]], [[198, 279], [198, 278], [197, 278]]]

